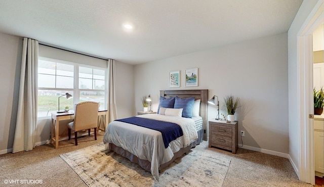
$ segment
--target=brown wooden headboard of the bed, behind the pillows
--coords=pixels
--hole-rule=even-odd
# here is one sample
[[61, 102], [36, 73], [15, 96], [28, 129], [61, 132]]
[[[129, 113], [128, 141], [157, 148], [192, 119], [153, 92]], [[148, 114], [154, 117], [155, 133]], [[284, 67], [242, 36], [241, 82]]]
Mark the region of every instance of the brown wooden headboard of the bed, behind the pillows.
[[160, 90], [161, 97], [190, 98], [200, 100], [200, 116], [203, 118], [204, 141], [207, 141], [207, 123], [208, 123], [208, 89], [186, 89], [186, 90]]

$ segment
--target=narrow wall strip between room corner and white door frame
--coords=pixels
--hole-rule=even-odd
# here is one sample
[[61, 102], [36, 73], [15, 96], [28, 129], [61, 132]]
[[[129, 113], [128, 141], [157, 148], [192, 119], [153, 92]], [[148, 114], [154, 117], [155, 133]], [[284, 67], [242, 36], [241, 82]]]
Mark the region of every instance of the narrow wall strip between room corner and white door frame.
[[[302, 28], [306, 18], [317, 2], [321, 0], [303, 1], [296, 17], [288, 31], [288, 69], [289, 69], [289, 155], [295, 166], [299, 166], [299, 154], [301, 150], [299, 138], [299, 110], [298, 110], [298, 49], [297, 33]], [[298, 174], [298, 172], [297, 172]]]

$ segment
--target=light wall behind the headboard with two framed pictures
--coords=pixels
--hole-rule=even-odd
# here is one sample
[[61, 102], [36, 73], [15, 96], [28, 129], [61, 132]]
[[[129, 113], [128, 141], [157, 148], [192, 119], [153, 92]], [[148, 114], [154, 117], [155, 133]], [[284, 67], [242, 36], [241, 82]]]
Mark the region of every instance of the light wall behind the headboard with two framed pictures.
[[[157, 110], [161, 89], [209, 89], [209, 97], [241, 99], [235, 118], [245, 130], [244, 145], [280, 153], [289, 152], [287, 33], [236, 43], [135, 66], [135, 104], [151, 94]], [[184, 70], [198, 68], [198, 87], [184, 86]], [[168, 88], [169, 71], [180, 70], [181, 87]], [[209, 106], [209, 118], [216, 117]], [[240, 140], [239, 140], [240, 143]]]

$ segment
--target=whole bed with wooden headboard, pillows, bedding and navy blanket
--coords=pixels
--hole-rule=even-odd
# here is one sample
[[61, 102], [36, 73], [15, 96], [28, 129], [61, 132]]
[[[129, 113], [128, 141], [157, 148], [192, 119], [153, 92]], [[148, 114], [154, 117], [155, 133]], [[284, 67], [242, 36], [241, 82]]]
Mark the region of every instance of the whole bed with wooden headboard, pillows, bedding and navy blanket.
[[[161, 102], [161, 98], [166, 100], [175, 98], [176, 101], [174, 106], [165, 107]], [[187, 100], [192, 100], [192, 98], [194, 98], [195, 104], [199, 103], [199, 116], [194, 118], [182, 117], [186, 113], [186, 108], [181, 108], [182, 105], [179, 104], [179, 101], [184, 103]], [[161, 111], [158, 111], [157, 114], [139, 115], [109, 123], [103, 138], [105, 149], [114, 151], [139, 164], [143, 169], [150, 171], [152, 176], [158, 180], [160, 169], [168, 166], [201, 141], [206, 141], [207, 101], [207, 89], [160, 90], [161, 108], [159, 110]], [[180, 111], [182, 116], [181, 114], [180, 116], [173, 115], [175, 112], [179, 113]], [[130, 121], [135, 119], [136, 121], [142, 121], [143, 124], [135, 124]], [[181, 127], [181, 130], [179, 133], [172, 131], [177, 136], [172, 135], [174, 136], [173, 139], [169, 139], [168, 142], [163, 131], [145, 127], [147, 124], [159, 127], [160, 125], [157, 125], [157, 123], [163, 123], [164, 125], [175, 123]], [[181, 134], [182, 132], [183, 134]]]

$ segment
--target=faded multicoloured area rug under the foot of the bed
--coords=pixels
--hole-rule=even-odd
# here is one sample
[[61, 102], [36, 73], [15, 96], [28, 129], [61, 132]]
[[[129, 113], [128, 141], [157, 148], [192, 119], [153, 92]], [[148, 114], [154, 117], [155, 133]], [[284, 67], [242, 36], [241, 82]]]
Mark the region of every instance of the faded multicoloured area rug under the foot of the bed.
[[230, 164], [229, 159], [194, 148], [161, 170], [157, 181], [139, 165], [105, 151], [104, 144], [60, 157], [88, 186], [222, 186]]

